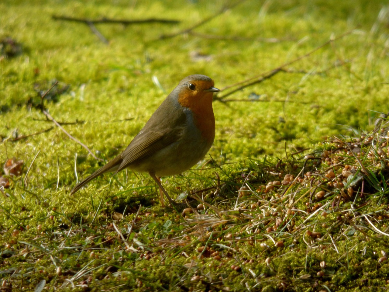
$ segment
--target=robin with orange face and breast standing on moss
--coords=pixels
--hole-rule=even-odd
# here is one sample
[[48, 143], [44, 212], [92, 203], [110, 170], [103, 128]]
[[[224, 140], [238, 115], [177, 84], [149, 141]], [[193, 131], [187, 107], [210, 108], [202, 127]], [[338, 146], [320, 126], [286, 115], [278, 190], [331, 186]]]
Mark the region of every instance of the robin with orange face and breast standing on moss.
[[127, 148], [78, 183], [70, 195], [105, 172], [115, 175], [128, 168], [148, 172], [159, 187], [161, 206], [165, 207], [163, 194], [174, 206], [161, 177], [190, 169], [208, 153], [215, 139], [212, 100], [218, 91], [208, 76], [195, 74], [182, 79]]

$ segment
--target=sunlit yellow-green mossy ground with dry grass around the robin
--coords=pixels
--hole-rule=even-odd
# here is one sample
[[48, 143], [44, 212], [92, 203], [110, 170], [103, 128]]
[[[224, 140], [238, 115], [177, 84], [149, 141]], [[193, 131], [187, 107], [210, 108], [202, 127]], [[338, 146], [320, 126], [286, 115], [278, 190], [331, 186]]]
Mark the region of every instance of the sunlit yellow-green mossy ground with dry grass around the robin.
[[[378, 113], [389, 111], [388, 3], [245, 1], [195, 29], [226, 39], [159, 38], [223, 4], [0, 4], [0, 40], [11, 37], [23, 49], [6, 56], [3, 46], [0, 57], [0, 161], [24, 161], [21, 176], [7, 176], [11, 188], [0, 203], [3, 290], [386, 289], [387, 127], [361, 135], [373, 130]], [[96, 24], [109, 40], [104, 44], [87, 25], [52, 15], [181, 23]], [[182, 207], [177, 214], [161, 208], [152, 179], [130, 171], [95, 179], [69, 197], [75, 164], [82, 179], [102, 162], [40, 111], [37, 90], [48, 90], [54, 79], [66, 90], [54, 89], [61, 94], [44, 106], [109, 160], [183, 77], [206, 74], [223, 89], [349, 31], [287, 72], [229, 97], [258, 100], [214, 102], [209, 156], [184, 176], [163, 180], [173, 197], [204, 209], [181, 214]], [[304, 159], [310, 153], [314, 157]], [[325, 196], [318, 199], [320, 190]]]

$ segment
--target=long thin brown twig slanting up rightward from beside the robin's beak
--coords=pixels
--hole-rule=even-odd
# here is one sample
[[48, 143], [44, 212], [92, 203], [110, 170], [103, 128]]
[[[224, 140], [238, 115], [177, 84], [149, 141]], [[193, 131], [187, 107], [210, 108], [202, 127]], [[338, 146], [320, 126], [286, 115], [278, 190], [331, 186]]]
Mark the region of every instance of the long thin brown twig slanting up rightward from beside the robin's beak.
[[[309, 51], [308, 53], [300, 56], [300, 57], [297, 57], [295, 58], [294, 60], [290, 61], [290, 62], [287, 62], [287, 63], [284, 63], [283, 65], [273, 69], [273, 70], [270, 70], [268, 72], [265, 72], [265, 73], [262, 73], [260, 75], [257, 75], [257, 76], [254, 76], [254, 77], [251, 77], [249, 79], [246, 79], [244, 81], [240, 81], [238, 83], [235, 83], [235, 84], [232, 84], [230, 86], [226, 86], [225, 88], [223, 88], [220, 92], [223, 92], [225, 90], [228, 90], [230, 88], [233, 88], [233, 87], [237, 87], [233, 90], [231, 90], [230, 92], [228, 93], [225, 93], [224, 95], [222, 96], [217, 96], [217, 94], [214, 95], [214, 100], [219, 100], [221, 102], [225, 102], [226, 100], [224, 100], [224, 98], [228, 97], [229, 95], [239, 91], [239, 90], [242, 90], [243, 88], [246, 88], [246, 87], [249, 87], [249, 86], [252, 86], [254, 84], [257, 84], [257, 83], [261, 83], [262, 81], [266, 80], [266, 79], [269, 79], [271, 77], [273, 77], [274, 75], [278, 74], [279, 72], [287, 72], [287, 70], [285, 69], [285, 67], [293, 64], [293, 63], [296, 63], [297, 61], [300, 61], [304, 58], [307, 58], [309, 57], [310, 55], [312, 55], [313, 53], [315, 53], [316, 51], [318, 51], [319, 49], [321, 49], [322, 47], [325, 47], [327, 46], [328, 44], [331, 44], [332, 42], [335, 42], [337, 40], [340, 40], [342, 39], [343, 37], [351, 34], [354, 30], [350, 30], [349, 32], [346, 32], [346, 33], [343, 33], [342, 35], [340, 35], [339, 37], [336, 37], [336, 38], [331, 38], [329, 39], [328, 41], [324, 42], [323, 44], [321, 44], [320, 46], [317, 46], [315, 47], [314, 49], [312, 49], [311, 51]], [[343, 63], [342, 63], [343, 64]], [[219, 92], [219, 94], [220, 94]]]

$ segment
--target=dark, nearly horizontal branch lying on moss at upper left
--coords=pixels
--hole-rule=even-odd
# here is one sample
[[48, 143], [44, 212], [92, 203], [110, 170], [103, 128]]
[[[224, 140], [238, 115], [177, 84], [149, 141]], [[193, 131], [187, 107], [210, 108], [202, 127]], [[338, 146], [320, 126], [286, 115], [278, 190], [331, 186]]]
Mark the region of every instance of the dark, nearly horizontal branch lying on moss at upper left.
[[135, 20], [110, 19], [110, 18], [86, 19], [86, 18], [75, 18], [75, 17], [70, 17], [70, 16], [55, 16], [55, 15], [53, 15], [52, 18], [54, 20], [82, 22], [82, 23], [85, 23], [87, 25], [89, 25], [89, 23], [93, 23], [93, 24], [96, 24], [96, 23], [117, 23], [117, 24], [123, 24], [123, 25], [146, 24], [146, 23], [167, 23], [167, 24], [180, 23], [179, 20], [160, 19], [160, 18], [135, 19]]

